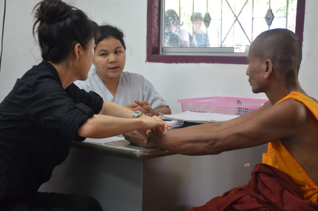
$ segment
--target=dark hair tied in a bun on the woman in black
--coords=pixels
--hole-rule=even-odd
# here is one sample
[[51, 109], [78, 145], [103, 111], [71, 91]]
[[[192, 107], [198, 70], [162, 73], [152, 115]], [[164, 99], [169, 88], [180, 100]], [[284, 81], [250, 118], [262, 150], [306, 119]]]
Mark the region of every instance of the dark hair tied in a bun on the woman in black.
[[33, 11], [36, 18], [42, 58], [53, 63], [63, 61], [76, 43], [85, 49], [91, 39], [98, 40], [98, 25], [80, 9], [61, 0], [42, 0]]

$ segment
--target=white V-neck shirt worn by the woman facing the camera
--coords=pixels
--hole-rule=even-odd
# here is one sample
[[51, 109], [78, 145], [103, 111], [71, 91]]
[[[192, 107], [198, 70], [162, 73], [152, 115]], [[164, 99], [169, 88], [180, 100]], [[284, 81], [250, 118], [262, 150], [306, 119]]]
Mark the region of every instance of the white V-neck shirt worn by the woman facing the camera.
[[120, 74], [115, 98], [98, 77], [95, 68], [89, 71], [86, 81], [76, 81], [74, 84], [86, 92], [93, 91], [97, 93], [104, 101], [113, 102], [121, 106], [135, 104], [134, 100], [147, 101], [153, 109], [168, 106], [155, 90], [155, 87], [144, 76], [136, 73], [122, 72]]

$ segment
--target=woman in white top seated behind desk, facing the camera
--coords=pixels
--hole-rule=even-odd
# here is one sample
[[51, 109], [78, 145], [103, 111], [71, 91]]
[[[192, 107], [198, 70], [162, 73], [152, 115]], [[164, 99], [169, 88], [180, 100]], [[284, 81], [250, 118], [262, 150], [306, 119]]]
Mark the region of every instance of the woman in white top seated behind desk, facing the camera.
[[104, 101], [114, 102], [131, 110], [153, 116], [171, 114], [167, 103], [154, 86], [142, 75], [123, 72], [126, 46], [123, 32], [113, 26], [100, 26], [101, 36], [96, 43], [93, 64], [86, 81], [75, 84], [100, 95]]

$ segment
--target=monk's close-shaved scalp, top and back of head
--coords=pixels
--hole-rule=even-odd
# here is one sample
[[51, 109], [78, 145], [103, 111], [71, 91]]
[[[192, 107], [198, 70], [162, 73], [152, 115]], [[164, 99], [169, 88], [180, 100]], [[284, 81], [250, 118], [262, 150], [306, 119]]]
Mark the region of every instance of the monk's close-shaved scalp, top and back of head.
[[279, 70], [299, 72], [302, 45], [297, 35], [288, 29], [271, 29], [259, 34], [252, 42], [250, 53], [260, 61], [272, 60]]

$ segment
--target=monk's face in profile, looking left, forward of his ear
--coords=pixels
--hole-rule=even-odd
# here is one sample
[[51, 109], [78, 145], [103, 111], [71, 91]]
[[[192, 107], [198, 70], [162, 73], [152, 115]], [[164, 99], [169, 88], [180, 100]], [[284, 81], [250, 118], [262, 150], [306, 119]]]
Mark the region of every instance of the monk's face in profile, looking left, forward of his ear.
[[252, 88], [253, 93], [263, 92], [263, 69], [264, 66], [262, 62], [257, 59], [254, 55], [254, 45], [253, 43], [250, 45], [247, 59], [248, 59], [248, 67], [246, 70], [246, 75], [248, 76], [249, 85]]

